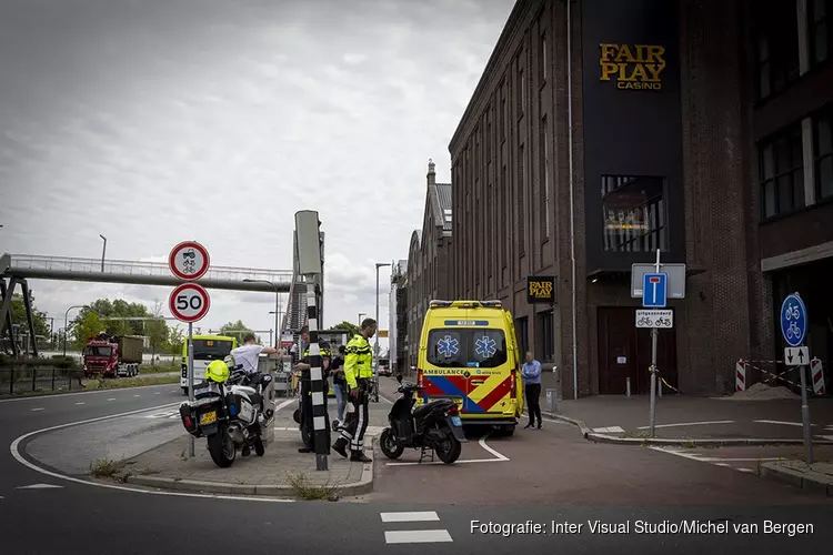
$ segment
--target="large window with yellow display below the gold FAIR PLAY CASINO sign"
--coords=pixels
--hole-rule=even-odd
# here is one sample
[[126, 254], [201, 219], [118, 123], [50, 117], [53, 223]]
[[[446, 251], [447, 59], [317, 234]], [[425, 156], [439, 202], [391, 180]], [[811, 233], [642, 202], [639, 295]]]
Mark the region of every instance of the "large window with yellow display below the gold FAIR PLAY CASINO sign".
[[664, 189], [664, 178], [602, 175], [605, 251], [668, 251]]

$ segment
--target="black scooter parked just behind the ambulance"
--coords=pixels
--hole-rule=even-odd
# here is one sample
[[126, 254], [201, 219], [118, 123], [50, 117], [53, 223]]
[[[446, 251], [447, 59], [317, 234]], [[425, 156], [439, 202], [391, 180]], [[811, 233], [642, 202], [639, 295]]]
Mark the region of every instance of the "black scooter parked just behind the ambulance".
[[388, 458], [399, 458], [405, 447], [420, 450], [420, 461], [431, 453], [445, 464], [453, 464], [462, 451], [462, 444], [468, 440], [463, 434], [463, 423], [454, 401], [439, 398], [424, 405], [416, 403], [414, 394], [424, 387], [402, 381], [402, 374], [397, 375], [400, 386], [397, 390], [402, 396], [393, 403], [388, 415], [390, 426], [382, 431], [379, 445]]

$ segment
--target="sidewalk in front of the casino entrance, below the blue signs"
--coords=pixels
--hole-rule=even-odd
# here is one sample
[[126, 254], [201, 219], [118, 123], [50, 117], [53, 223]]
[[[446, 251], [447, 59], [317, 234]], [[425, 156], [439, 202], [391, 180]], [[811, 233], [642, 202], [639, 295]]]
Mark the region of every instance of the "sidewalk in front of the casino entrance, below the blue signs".
[[[802, 441], [800, 397], [742, 398], [668, 394], [658, 397], [655, 436], [715, 444]], [[813, 440], [833, 442], [833, 398], [811, 398], [809, 405]], [[553, 416], [583, 423], [582, 433], [590, 440], [644, 440], [650, 433], [650, 397], [600, 395], [561, 401]]]

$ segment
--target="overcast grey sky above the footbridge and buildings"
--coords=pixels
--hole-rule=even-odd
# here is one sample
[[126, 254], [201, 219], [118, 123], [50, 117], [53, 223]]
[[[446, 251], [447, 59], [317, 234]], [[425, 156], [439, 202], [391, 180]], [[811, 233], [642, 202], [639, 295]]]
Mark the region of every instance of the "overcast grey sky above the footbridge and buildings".
[[[325, 325], [374, 311], [513, 0], [0, 0], [0, 253], [291, 268], [327, 233]], [[382, 270], [383, 289], [389, 273]], [[32, 282], [63, 317], [168, 287]], [[388, 294], [380, 295], [388, 327]], [[273, 326], [274, 296], [212, 292], [198, 325]], [[56, 322], [56, 327], [59, 323]]]

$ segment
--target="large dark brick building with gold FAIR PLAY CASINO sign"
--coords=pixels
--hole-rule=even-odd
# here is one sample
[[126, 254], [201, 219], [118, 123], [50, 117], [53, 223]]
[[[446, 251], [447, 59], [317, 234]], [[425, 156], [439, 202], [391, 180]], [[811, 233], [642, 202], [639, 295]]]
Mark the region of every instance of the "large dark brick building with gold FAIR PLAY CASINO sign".
[[519, 1], [449, 145], [451, 294], [502, 300], [566, 398], [648, 390], [630, 269], [656, 249], [688, 269], [672, 385], [724, 393], [739, 359], [777, 359], [792, 291], [829, 361], [831, 59], [831, 0]]

